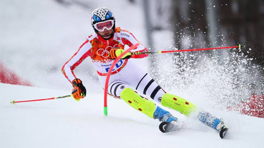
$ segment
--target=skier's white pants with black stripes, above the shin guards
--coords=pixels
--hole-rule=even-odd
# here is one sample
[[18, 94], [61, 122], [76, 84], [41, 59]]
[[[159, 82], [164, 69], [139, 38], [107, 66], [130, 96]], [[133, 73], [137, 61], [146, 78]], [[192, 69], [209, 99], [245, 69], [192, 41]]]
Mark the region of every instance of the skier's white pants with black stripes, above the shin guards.
[[[98, 78], [104, 88], [106, 76], [98, 75]], [[148, 73], [137, 67], [132, 61], [128, 61], [121, 71], [110, 76], [107, 91], [118, 98], [126, 87], [145, 94], [159, 104], [161, 103], [161, 97], [165, 93]]]

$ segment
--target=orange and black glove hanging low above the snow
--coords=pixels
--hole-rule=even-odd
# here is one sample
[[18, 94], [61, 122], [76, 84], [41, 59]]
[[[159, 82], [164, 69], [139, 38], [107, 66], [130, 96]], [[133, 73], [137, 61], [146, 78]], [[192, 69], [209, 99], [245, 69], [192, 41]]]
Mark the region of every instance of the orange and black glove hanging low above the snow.
[[84, 98], [86, 95], [86, 89], [82, 85], [82, 81], [80, 79], [74, 79], [72, 81], [72, 95], [76, 101], [80, 101], [81, 98]]

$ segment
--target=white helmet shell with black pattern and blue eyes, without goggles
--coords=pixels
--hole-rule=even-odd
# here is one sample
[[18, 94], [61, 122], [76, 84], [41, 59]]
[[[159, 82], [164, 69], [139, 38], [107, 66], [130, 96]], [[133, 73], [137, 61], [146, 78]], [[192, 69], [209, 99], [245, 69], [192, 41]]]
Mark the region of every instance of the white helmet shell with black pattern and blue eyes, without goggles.
[[115, 23], [116, 23], [116, 19], [112, 13], [112, 11], [106, 7], [100, 7], [100, 8], [96, 8], [94, 9], [94, 11], [92, 12], [92, 18], [91, 18], [91, 24], [92, 27], [94, 28], [94, 31], [97, 33], [98, 30], [96, 29], [96, 27], [94, 26], [96, 23], [99, 22], [105, 22], [107, 20], [113, 20], [113, 30], [115, 31]]

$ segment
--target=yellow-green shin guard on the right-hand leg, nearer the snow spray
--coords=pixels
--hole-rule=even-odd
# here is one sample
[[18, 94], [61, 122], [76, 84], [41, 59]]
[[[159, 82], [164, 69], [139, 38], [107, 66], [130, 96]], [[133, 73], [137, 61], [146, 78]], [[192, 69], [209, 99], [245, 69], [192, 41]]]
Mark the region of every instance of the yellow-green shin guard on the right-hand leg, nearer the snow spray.
[[161, 105], [170, 109], [174, 109], [175, 111], [178, 111], [187, 117], [192, 111], [196, 110], [196, 106], [191, 102], [168, 93], [163, 94], [161, 99]]

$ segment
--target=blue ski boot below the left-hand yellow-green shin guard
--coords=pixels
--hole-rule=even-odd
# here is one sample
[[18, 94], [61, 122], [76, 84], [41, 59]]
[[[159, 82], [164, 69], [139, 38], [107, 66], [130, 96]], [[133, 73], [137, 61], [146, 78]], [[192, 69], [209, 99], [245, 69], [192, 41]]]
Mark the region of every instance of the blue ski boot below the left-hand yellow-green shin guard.
[[173, 117], [170, 112], [165, 111], [164, 109], [157, 106], [157, 109], [155, 110], [153, 114], [154, 119], [159, 119], [161, 122], [170, 122], [170, 123], [176, 123], [178, 122], [178, 118]]

